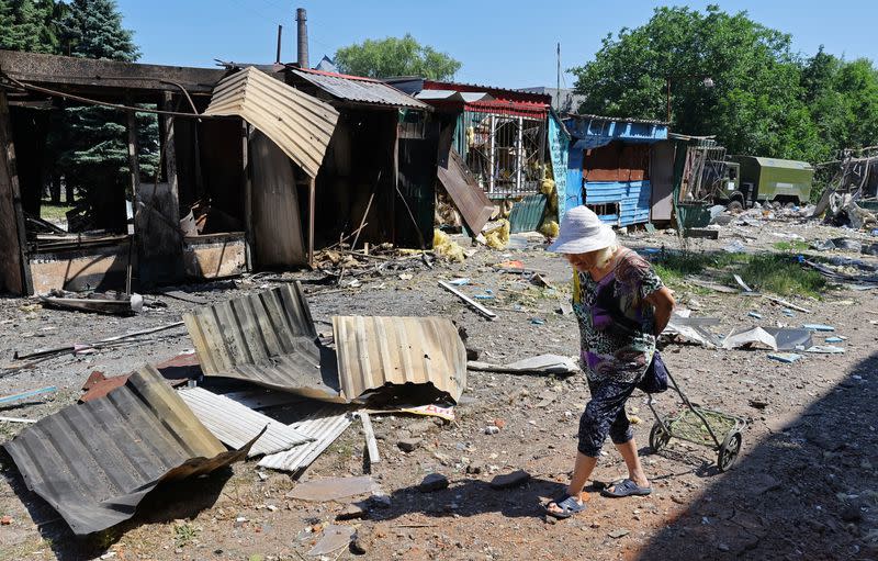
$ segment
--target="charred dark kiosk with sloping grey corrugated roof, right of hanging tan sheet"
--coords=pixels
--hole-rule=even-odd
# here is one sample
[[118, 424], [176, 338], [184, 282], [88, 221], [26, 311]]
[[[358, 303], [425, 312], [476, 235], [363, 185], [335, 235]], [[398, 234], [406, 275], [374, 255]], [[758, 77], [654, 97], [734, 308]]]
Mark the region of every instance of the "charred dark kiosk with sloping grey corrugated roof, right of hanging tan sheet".
[[286, 83], [325, 100], [338, 125], [316, 178], [315, 239], [432, 244], [439, 123], [432, 109], [380, 80], [288, 66]]

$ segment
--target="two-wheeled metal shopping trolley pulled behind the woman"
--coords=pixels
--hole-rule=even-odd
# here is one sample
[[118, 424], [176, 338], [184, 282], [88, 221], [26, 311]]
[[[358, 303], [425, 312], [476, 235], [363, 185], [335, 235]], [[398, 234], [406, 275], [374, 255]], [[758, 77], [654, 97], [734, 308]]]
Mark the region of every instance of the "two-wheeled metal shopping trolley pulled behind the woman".
[[741, 417], [713, 409], [698, 407], [689, 402], [679, 389], [677, 381], [667, 374], [668, 388], [677, 392], [686, 407], [672, 417], [662, 417], [649, 394], [649, 406], [655, 416], [655, 424], [650, 430], [650, 446], [656, 452], [664, 448], [672, 438], [706, 446], [717, 452], [717, 467], [727, 471], [734, 465], [743, 440], [742, 430], [746, 422]]

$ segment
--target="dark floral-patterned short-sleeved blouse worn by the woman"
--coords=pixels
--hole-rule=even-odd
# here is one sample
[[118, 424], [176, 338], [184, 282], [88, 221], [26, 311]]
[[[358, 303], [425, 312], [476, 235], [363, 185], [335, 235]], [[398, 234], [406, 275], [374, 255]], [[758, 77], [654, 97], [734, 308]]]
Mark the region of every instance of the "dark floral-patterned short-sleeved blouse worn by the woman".
[[645, 298], [664, 284], [645, 259], [621, 251], [614, 270], [599, 281], [574, 272], [573, 310], [590, 382], [635, 382], [655, 352], [653, 307]]

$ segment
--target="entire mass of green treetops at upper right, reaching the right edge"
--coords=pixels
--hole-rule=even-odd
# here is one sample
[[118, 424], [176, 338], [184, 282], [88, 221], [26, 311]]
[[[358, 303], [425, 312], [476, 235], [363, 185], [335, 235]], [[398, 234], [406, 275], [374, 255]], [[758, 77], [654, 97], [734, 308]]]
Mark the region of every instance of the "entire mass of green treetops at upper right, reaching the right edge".
[[[717, 5], [657, 8], [634, 30], [608, 35], [574, 68], [582, 113], [666, 119], [672, 128], [717, 135], [730, 154], [821, 161], [878, 139], [878, 72], [821, 51], [807, 60], [790, 36]], [[710, 77], [708, 88], [702, 78]]]

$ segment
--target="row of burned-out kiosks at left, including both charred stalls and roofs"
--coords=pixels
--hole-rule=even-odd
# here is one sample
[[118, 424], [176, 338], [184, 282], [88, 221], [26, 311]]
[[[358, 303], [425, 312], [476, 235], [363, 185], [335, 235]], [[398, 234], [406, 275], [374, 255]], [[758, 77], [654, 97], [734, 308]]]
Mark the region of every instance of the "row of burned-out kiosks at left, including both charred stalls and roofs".
[[[0, 52], [0, 80], [2, 292], [130, 293], [300, 267], [358, 225], [363, 242], [431, 242], [439, 125], [381, 81], [16, 52]], [[88, 178], [64, 229], [40, 218], [46, 139], [57, 114], [93, 105], [124, 131], [125, 179]], [[151, 176], [145, 113], [158, 122]]]

